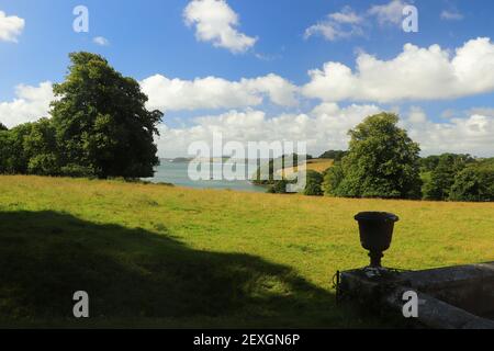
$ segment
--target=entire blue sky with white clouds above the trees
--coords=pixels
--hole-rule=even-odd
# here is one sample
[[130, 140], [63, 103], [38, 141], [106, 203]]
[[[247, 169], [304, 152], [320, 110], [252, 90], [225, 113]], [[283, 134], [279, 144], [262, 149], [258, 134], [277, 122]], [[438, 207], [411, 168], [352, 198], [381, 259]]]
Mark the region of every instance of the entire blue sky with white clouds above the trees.
[[0, 0], [0, 122], [49, 116], [86, 50], [165, 113], [160, 157], [214, 133], [317, 156], [381, 111], [423, 155], [494, 156], [493, 16], [491, 0]]

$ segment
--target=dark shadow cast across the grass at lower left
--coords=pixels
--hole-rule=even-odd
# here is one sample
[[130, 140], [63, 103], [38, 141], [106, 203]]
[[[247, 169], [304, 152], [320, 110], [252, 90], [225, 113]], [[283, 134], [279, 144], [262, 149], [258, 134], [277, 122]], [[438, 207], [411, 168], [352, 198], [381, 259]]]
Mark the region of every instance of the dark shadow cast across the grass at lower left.
[[356, 326], [333, 294], [290, 268], [194, 250], [169, 235], [55, 212], [0, 213], [1, 324], [70, 326], [72, 294], [87, 291], [94, 326]]

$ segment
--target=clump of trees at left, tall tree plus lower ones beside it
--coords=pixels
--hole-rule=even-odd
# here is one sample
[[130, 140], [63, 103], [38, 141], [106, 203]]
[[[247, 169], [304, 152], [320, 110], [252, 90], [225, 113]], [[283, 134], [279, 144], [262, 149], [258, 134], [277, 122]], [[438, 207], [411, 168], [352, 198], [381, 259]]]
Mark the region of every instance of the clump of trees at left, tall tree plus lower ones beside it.
[[75, 53], [70, 60], [66, 80], [54, 84], [52, 118], [0, 126], [0, 172], [151, 177], [162, 113], [148, 111], [138, 82], [103, 57]]

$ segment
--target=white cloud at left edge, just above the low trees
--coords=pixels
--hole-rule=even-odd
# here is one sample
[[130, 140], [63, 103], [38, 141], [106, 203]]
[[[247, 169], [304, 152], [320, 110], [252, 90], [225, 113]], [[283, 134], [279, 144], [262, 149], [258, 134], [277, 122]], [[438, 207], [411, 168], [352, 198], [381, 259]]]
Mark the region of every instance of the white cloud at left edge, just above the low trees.
[[49, 81], [42, 82], [38, 87], [18, 86], [13, 101], [0, 102], [0, 122], [9, 128], [47, 116], [49, 103], [54, 100]]

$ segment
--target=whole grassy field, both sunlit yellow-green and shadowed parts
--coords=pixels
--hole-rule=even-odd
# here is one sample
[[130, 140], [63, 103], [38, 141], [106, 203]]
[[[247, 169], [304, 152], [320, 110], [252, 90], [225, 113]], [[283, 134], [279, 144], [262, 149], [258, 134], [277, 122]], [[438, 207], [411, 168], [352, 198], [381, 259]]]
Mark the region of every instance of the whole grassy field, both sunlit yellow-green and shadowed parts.
[[[380, 327], [335, 303], [390, 211], [389, 267], [494, 260], [494, 204], [345, 200], [0, 177], [1, 327]], [[72, 293], [91, 318], [71, 317]]]

